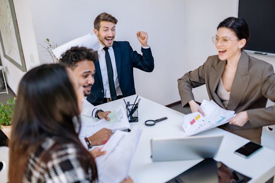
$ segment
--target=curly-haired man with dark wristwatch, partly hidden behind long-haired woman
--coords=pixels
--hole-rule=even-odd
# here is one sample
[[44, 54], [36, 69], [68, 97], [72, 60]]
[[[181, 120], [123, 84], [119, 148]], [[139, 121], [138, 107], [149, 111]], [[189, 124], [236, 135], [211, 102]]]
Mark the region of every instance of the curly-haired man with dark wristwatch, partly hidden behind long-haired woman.
[[[87, 96], [91, 93], [91, 88], [94, 84], [95, 74], [94, 61], [96, 61], [97, 59], [97, 52], [95, 52], [94, 50], [85, 47], [75, 46], [63, 53], [61, 55], [61, 59], [59, 60], [59, 63], [70, 67], [73, 70], [80, 84], [79, 87], [84, 88], [84, 96]], [[97, 109], [92, 104], [90, 104], [90, 102], [83, 98], [81, 114], [96, 117], [99, 119], [104, 118], [109, 121], [110, 118], [107, 116], [109, 113], [111, 113], [111, 111], [104, 112], [101, 109]], [[94, 145], [105, 144], [106, 141], [109, 140], [111, 135], [112, 130], [102, 128], [97, 133], [94, 133], [94, 135], [87, 137], [87, 139], [85, 140], [89, 141], [90, 146], [88, 145], [88, 148], [91, 148], [91, 146]]]

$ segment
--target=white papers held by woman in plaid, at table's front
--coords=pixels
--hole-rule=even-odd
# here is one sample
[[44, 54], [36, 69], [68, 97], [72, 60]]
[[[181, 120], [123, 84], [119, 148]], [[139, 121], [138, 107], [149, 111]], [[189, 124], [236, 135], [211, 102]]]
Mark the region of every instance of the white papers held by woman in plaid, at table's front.
[[131, 132], [117, 130], [111, 136], [102, 147], [106, 154], [95, 159], [99, 182], [121, 182], [128, 176], [140, 133], [141, 130], [133, 128]]

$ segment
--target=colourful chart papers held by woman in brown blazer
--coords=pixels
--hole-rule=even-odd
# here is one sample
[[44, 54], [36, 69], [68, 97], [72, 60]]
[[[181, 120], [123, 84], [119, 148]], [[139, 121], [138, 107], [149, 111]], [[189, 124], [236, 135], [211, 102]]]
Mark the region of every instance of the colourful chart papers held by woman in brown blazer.
[[202, 116], [200, 112], [194, 112], [184, 116], [182, 127], [189, 136], [228, 123], [229, 120], [236, 115], [235, 111], [223, 109], [213, 100], [210, 102], [203, 100], [200, 107], [205, 116]]

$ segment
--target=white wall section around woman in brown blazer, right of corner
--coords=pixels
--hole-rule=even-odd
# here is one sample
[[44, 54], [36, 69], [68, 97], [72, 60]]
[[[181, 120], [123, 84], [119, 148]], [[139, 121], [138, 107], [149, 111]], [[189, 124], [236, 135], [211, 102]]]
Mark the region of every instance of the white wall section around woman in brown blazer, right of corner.
[[[211, 37], [216, 35], [219, 22], [230, 16], [238, 16], [238, 0], [187, 0], [185, 12], [186, 67], [191, 71], [202, 65], [208, 56], [217, 55]], [[274, 57], [251, 56], [269, 62], [275, 68]], [[194, 88], [193, 93], [198, 102], [209, 100], [205, 85]], [[271, 104], [269, 101], [268, 105]]]

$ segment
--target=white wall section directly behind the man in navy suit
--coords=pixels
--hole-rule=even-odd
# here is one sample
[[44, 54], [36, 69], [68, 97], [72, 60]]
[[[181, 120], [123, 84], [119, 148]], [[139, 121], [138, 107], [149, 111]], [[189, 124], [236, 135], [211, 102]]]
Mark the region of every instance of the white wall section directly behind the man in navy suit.
[[185, 72], [185, 1], [30, 0], [39, 59], [47, 60], [38, 43], [49, 38], [59, 44], [91, 33], [94, 18], [107, 12], [118, 19], [116, 41], [129, 41], [141, 53], [136, 32], [149, 34], [155, 69], [134, 70], [136, 93], [166, 105], [180, 100], [177, 79]]

